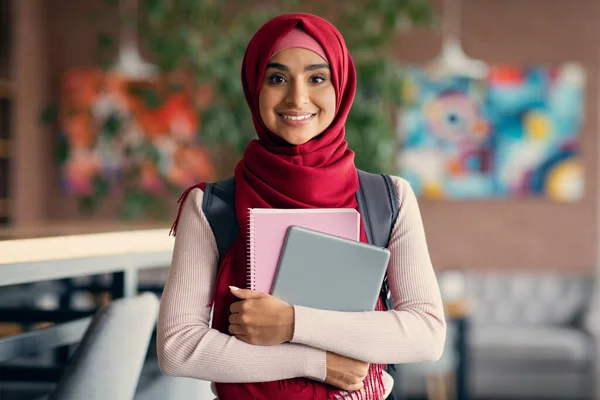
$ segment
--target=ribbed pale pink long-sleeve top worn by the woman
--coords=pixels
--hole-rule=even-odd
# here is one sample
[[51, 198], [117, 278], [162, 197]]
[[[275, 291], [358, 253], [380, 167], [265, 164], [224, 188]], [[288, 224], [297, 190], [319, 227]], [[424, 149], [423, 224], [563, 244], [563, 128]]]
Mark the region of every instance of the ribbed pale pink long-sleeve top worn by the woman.
[[162, 372], [213, 382], [324, 381], [326, 352], [369, 363], [438, 359], [446, 323], [419, 206], [408, 182], [393, 177], [400, 203], [389, 249], [394, 309], [347, 313], [294, 307], [290, 343], [254, 346], [210, 328], [217, 275], [215, 237], [202, 212], [203, 192], [187, 197], [161, 299], [158, 358]]

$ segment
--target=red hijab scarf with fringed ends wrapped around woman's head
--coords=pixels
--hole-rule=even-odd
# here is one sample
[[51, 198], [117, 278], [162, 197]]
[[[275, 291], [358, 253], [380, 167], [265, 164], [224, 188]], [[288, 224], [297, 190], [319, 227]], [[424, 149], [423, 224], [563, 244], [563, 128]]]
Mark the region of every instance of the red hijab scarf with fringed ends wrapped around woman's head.
[[[294, 146], [276, 136], [263, 123], [259, 93], [265, 69], [276, 44], [294, 28], [314, 38], [331, 69], [336, 93], [336, 116], [331, 125], [309, 142]], [[229, 307], [236, 301], [229, 286], [246, 287], [248, 208], [354, 208], [358, 174], [354, 152], [344, 138], [344, 124], [354, 100], [356, 71], [342, 35], [326, 20], [310, 14], [287, 14], [263, 25], [254, 35], [242, 64], [242, 84], [258, 140], [248, 144], [235, 168], [235, 209], [240, 226], [238, 239], [224, 254], [215, 283], [213, 328], [228, 333]], [[197, 185], [204, 190], [204, 184]], [[188, 189], [181, 197], [183, 204]], [[360, 211], [360, 210], [359, 210]], [[174, 224], [176, 229], [177, 220]], [[366, 242], [364, 227], [361, 241]], [[383, 310], [381, 300], [377, 305]], [[372, 365], [365, 381], [364, 399], [383, 397], [381, 371]], [[340, 392], [329, 385], [296, 378], [266, 383], [217, 383], [219, 400], [333, 399]], [[361, 399], [358, 393], [355, 398]]]

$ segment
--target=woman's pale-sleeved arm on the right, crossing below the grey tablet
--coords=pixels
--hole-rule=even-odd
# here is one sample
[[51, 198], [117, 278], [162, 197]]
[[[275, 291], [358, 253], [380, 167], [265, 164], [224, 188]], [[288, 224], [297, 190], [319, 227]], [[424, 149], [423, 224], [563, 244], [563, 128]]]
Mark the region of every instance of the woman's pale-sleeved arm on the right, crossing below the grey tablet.
[[419, 206], [408, 182], [397, 177], [394, 182], [400, 202], [389, 245], [394, 310], [343, 313], [294, 307], [292, 343], [381, 364], [441, 356], [446, 323]]

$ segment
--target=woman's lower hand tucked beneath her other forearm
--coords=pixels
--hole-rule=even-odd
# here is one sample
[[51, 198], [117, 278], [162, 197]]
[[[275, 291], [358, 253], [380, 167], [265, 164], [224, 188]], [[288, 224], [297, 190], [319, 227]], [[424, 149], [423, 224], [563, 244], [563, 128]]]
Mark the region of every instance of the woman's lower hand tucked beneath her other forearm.
[[369, 374], [369, 363], [330, 352], [327, 352], [326, 360], [326, 383], [348, 392], [364, 387], [363, 381]]

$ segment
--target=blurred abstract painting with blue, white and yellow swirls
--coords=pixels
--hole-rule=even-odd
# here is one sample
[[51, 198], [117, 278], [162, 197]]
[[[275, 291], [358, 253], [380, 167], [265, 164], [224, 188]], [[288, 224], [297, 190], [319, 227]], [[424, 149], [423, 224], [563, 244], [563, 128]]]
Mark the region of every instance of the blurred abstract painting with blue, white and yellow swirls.
[[491, 66], [483, 80], [408, 68], [400, 174], [429, 199], [577, 201], [584, 88], [577, 64]]

